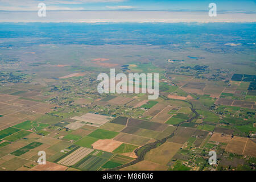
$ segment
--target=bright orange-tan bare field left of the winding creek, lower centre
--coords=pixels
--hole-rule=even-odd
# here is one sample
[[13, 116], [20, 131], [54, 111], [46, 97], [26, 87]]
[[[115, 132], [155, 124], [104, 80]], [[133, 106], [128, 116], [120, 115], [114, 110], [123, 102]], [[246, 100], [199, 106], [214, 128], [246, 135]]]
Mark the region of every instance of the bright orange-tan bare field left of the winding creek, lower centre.
[[97, 150], [103, 150], [106, 152], [113, 152], [115, 148], [119, 147], [122, 144], [122, 142], [118, 142], [116, 140], [110, 140], [110, 139], [99, 139], [96, 142], [92, 144], [93, 148]]

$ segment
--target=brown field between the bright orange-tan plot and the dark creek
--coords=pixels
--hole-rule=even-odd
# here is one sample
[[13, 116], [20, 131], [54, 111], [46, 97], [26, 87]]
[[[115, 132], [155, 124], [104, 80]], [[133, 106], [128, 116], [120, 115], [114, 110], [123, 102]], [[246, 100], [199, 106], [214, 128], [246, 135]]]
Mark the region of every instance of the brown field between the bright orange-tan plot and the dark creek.
[[119, 142], [134, 144], [136, 146], [143, 146], [150, 140], [150, 138], [139, 137], [137, 135], [130, 135], [126, 133], [119, 133], [114, 138], [114, 140], [117, 140]]

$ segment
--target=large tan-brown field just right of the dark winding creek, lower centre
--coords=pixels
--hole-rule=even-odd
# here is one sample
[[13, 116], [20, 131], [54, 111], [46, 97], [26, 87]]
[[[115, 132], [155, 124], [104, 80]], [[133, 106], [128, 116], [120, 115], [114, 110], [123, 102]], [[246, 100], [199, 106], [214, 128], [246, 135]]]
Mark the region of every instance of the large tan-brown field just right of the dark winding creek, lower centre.
[[180, 149], [180, 147], [181, 144], [166, 142], [148, 152], [145, 156], [145, 160], [166, 165]]

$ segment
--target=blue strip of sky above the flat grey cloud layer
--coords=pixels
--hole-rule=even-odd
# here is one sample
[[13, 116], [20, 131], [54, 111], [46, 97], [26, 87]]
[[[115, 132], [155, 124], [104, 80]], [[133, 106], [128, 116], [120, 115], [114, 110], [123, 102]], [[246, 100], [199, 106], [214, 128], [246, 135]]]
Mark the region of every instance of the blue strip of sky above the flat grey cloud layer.
[[48, 10], [208, 10], [211, 2], [219, 11], [255, 11], [255, 0], [0, 0], [0, 10], [38, 10], [44, 2]]

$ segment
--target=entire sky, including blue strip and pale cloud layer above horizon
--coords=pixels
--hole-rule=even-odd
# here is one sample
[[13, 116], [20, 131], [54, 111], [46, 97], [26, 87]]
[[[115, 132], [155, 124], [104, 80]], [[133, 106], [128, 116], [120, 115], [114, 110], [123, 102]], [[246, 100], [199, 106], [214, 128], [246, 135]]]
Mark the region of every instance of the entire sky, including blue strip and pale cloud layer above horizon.
[[0, 0], [0, 22], [256, 22], [256, 0]]

